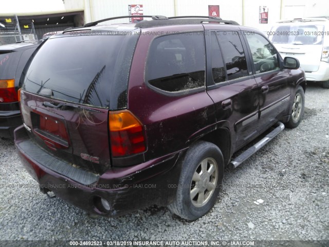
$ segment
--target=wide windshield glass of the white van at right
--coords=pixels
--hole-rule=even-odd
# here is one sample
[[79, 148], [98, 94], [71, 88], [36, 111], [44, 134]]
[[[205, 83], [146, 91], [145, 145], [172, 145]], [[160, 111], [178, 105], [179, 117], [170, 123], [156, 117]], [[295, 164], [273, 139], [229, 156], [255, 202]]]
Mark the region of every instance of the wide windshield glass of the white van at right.
[[275, 26], [268, 34], [272, 43], [321, 45], [323, 30], [324, 26], [322, 25]]

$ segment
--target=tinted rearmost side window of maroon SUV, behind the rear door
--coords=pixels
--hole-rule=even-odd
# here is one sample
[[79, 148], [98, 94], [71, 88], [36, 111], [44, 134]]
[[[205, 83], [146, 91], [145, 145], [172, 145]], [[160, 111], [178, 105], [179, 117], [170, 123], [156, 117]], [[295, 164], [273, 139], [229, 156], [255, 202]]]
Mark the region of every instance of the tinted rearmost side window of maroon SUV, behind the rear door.
[[150, 47], [145, 80], [157, 89], [179, 92], [205, 86], [204, 33], [156, 38]]

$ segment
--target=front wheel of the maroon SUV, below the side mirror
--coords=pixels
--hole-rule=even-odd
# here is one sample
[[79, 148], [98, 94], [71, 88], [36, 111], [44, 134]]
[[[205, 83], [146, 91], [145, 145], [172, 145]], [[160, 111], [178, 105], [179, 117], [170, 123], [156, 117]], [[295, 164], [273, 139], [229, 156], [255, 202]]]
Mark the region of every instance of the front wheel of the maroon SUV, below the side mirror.
[[297, 87], [293, 105], [291, 106], [291, 116], [289, 121], [286, 123], [286, 127], [293, 129], [299, 126], [304, 115], [305, 107], [305, 94], [301, 86]]

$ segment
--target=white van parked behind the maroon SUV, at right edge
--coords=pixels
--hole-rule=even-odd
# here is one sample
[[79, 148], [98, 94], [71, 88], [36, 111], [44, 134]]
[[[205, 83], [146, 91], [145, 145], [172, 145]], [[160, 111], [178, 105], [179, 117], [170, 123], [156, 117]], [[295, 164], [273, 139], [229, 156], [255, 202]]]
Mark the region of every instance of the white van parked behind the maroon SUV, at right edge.
[[329, 89], [329, 20], [303, 18], [278, 22], [268, 32], [280, 55], [294, 57], [305, 70], [307, 81]]

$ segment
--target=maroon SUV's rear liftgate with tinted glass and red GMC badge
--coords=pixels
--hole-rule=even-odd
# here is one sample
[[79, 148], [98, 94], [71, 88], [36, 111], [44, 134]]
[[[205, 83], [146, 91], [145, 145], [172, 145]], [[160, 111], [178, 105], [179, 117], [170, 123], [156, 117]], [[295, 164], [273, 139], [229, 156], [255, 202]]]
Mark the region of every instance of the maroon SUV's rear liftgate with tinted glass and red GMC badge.
[[69, 32], [39, 47], [24, 72], [22, 116], [45, 152], [101, 174], [111, 166], [108, 113], [126, 108], [138, 35], [86, 33]]

